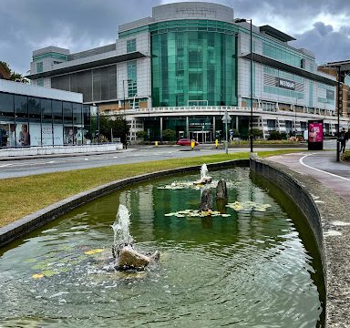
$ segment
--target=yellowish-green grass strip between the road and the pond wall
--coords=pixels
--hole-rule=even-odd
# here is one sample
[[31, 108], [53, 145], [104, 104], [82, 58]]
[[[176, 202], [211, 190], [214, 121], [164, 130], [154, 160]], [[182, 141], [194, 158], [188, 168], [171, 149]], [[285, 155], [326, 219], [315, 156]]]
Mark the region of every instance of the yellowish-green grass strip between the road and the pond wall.
[[[296, 149], [259, 152], [260, 157], [280, 155]], [[248, 159], [248, 152], [193, 157], [190, 159], [166, 159], [134, 164], [78, 169], [67, 172], [48, 173], [25, 178], [2, 179], [0, 184], [0, 227], [41, 210], [59, 200], [79, 192], [98, 187], [117, 179], [162, 169], [176, 169], [215, 163], [232, 159]]]

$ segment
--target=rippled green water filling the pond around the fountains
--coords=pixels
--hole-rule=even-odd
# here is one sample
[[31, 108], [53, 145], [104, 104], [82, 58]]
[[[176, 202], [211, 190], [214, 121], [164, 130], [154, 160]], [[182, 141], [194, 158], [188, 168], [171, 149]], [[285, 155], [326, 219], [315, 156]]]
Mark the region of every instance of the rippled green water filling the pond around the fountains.
[[[226, 209], [225, 218], [165, 216], [198, 209], [201, 191], [158, 187], [199, 173], [90, 202], [0, 250], [0, 327], [322, 326], [320, 259], [297, 212], [254, 185], [249, 169], [210, 175], [229, 182], [230, 202], [272, 207]], [[108, 270], [118, 204], [131, 213], [136, 248], [161, 253], [145, 272]], [[86, 253], [94, 250], [101, 251]]]

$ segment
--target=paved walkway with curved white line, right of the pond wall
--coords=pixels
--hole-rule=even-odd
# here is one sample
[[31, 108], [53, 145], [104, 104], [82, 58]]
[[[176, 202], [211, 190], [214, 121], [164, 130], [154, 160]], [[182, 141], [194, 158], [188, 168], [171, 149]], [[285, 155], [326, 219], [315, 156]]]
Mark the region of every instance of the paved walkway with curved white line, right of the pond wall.
[[337, 162], [334, 151], [304, 151], [272, 156], [269, 160], [314, 177], [350, 204], [350, 163]]

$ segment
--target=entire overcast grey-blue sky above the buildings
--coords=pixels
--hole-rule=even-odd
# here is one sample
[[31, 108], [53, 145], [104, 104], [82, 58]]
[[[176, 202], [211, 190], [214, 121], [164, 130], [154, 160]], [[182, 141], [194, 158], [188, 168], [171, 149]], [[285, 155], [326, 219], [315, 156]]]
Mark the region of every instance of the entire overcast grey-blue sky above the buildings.
[[[115, 42], [118, 25], [171, 0], [0, 0], [0, 61], [26, 75], [32, 51], [61, 46], [71, 53]], [[350, 0], [216, 0], [234, 17], [252, 18], [293, 36], [319, 64], [350, 59]]]

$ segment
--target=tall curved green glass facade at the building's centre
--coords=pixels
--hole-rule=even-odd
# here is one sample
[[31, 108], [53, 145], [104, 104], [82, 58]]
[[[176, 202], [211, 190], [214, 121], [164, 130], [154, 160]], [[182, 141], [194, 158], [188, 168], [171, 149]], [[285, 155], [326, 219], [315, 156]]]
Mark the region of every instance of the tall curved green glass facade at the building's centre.
[[232, 25], [171, 21], [152, 25], [150, 34], [154, 107], [237, 105]]

